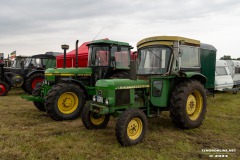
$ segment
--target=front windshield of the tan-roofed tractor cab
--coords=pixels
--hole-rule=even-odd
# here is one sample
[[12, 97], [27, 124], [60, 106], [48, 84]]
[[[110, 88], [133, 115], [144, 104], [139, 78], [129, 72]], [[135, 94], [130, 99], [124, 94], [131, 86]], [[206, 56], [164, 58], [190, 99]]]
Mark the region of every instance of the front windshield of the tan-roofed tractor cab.
[[168, 71], [171, 49], [151, 46], [139, 50], [138, 74], [164, 74]]

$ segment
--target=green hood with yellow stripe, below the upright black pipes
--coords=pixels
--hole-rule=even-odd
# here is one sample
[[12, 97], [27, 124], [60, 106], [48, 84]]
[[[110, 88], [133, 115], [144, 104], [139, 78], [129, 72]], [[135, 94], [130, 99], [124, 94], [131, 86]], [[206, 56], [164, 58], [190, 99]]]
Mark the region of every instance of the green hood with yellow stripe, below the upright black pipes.
[[91, 76], [91, 68], [49, 68], [45, 76]]

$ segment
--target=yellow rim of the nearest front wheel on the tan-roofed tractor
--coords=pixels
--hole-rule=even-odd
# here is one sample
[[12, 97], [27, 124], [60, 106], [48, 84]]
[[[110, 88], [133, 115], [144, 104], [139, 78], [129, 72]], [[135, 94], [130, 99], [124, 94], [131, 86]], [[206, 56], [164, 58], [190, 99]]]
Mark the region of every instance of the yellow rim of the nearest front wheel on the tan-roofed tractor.
[[131, 140], [136, 140], [142, 133], [143, 124], [140, 118], [133, 118], [127, 126], [127, 135]]

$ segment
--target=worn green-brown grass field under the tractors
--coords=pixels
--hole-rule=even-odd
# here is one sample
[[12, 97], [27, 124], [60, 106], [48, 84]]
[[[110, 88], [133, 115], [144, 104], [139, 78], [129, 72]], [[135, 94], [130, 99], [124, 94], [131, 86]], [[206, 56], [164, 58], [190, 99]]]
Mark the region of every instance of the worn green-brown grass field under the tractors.
[[[22, 90], [0, 97], [0, 159], [240, 159], [240, 93], [208, 97], [200, 128], [175, 128], [168, 112], [148, 119], [148, 132], [136, 146], [121, 147], [112, 119], [104, 130], [87, 130], [79, 117], [56, 122], [20, 98]], [[207, 152], [207, 149], [233, 149]], [[213, 156], [213, 158], [210, 158]], [[228, 158], [226, 158], [228, 156]]]

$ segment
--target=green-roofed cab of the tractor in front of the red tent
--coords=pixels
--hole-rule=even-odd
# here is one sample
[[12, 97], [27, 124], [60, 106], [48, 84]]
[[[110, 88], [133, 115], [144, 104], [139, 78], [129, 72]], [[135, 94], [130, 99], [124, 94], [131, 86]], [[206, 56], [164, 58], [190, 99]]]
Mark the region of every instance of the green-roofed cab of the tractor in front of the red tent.
[[[131, 46], [125, 42], [96, 40], [88, 44], [88, 67], [92, 68], [91, 83], [109, 77], [129, 75]], [[125, 77], [125, 78], [128, 78]]]

